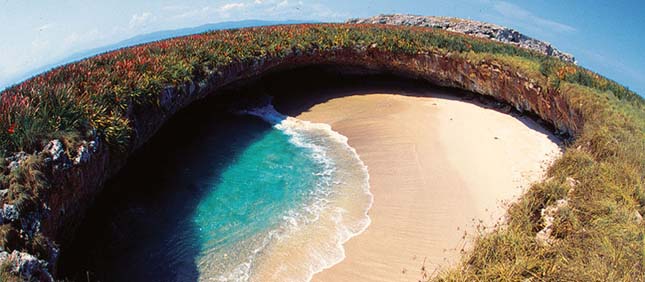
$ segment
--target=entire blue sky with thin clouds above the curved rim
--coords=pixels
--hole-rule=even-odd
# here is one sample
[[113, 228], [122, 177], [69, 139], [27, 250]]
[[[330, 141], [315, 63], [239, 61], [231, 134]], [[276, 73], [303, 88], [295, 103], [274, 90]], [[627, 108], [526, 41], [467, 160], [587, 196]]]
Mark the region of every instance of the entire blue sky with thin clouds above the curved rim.
[[331, 22], [412, 13], [515, 28], [644, 95], [643, 12], [642, 0], [0, 0], [0, 89], [74, 52], [158, 30], [243, 19]]

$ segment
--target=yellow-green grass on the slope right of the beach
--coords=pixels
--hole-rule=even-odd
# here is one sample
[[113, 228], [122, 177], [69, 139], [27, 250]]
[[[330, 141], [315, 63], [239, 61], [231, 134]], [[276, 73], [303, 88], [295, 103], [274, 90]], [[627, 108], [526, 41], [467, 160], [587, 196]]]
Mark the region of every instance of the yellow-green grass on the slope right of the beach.
[[[645, 126], [640, 105], [569, 82], [560, 91], [584, 109], [585, 126], [548, 171], [508, 211], [508, 224], [482, 233], [460, 266], [438, 281], [643, 281]], [[579, 183], [567, 184], [567, 178]], [[558, 199], [556, 242], [535, 240], [540, 211]]]

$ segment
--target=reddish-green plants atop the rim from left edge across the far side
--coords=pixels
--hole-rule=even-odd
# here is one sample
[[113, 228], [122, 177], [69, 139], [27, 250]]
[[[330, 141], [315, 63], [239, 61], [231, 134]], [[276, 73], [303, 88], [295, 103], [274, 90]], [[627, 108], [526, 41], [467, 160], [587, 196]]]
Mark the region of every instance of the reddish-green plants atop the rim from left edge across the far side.
[[[105, 53], [54, 69], [7, 89], [0, 99], [0, 151], [33, 151], [65, 132], [95, 129], [109, 144], [127, 147], [128, 110], [158, 104], [162, 87], [197, 81], [233, 62], [285, 57], [292, 52], [372, 46], [418, 54], [458, 52], [518, 62], [545, 77], [611, 91], [633, 92], [586, 71], [511, 45], [421, 28], [299, 25], [211, 32]], [[531, 75], [535, 75], [531, 73]]]

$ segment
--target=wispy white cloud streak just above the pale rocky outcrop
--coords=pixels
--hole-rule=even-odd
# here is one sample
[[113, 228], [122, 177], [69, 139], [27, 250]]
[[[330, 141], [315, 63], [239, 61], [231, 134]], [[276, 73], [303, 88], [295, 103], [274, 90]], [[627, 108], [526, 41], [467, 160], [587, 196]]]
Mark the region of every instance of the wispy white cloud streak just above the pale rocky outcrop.
[[517, 22], [522, 22], [526, 25], [543, 27], [549, 31], [560, 33], [576, 31], [576, 29], [570, 25], [542, 18], [512, 3], [504, 1], [496, 2], [493, 4], [493, 8], [502, 16], [511, 18]]

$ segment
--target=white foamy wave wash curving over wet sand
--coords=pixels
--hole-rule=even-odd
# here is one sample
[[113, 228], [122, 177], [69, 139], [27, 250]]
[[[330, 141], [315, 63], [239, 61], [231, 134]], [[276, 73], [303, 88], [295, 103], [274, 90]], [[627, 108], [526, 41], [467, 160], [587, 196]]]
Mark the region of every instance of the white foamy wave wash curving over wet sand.
[[341, 262], [343, 244], [370, 224], [367, 211], [373, 196], [367, 167], [347, 137], [328, 124], [282, 115], [271, 104], [243, 113], [272, 124], [324, 169], [316, 174], [311, 200], [286, 211], [281, 224], [257, 238], [257, 247], [231, 271], [209, 275], [209, 256], [204, 256], [199, 262], [200, 280], [309, 281]]

